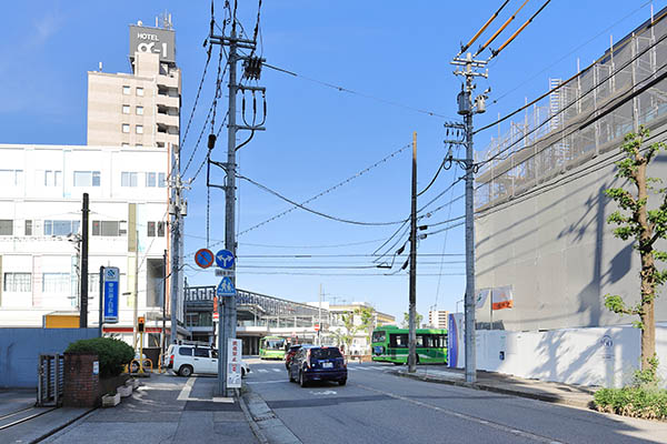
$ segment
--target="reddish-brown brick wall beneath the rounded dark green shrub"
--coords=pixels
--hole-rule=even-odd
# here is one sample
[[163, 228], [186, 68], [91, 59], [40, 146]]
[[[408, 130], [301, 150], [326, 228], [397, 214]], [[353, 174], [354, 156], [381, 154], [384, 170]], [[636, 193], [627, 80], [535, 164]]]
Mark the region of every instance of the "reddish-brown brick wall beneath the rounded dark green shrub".
[[100, 375], [92, 374], [97, 354], [64, 354], [64, 390], [62, 405], [66, 407], [94, 407], [99, 405]]

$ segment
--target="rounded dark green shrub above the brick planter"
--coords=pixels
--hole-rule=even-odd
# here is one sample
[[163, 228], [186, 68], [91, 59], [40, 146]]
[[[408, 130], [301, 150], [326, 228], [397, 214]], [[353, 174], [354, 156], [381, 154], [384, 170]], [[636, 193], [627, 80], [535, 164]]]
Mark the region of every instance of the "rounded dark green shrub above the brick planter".
[[120, 340], [112, 337], [93, 337], [72, 342], [67, 352], [88, 352], [98, 355], [100, 376], [111, 377], [122, 373], [123, 366], [135, 357], [135, 350]]

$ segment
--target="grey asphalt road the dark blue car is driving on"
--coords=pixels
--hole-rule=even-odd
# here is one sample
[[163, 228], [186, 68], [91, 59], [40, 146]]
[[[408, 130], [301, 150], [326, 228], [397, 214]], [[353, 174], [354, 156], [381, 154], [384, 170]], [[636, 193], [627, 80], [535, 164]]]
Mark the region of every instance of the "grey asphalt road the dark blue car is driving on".
[[290, 383], [250, 360], [247, 386], [303, 443], [667, 443], [667, 424], [415, 381], [391, 364], [348, 364], [348, 383]]

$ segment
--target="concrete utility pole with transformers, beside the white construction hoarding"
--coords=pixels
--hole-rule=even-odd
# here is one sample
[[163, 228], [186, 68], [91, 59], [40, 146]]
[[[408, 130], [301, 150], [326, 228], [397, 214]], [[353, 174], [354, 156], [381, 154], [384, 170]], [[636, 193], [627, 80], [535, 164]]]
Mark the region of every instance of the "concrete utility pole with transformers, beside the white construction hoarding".
[[[458, 113], [464, 115], [464, 125], [466, 130], [466, 159], [456, 160], [462, 164], [466, 170], [466, 296], [465, 296], [465, 326], [466, 326], [466, 381], [477, 381], [477, 356], [475, 351], [475, 151], [472, 149], [472, 114], [486, 111], [486, 92], [475, 99], [475, 110], [472, 105], [472, 90], [475, 84], [472, 80], [476, 75], [488, 77], [488, 72], [474, 71], [476, 68], [484, 68], [486, 61], [472, 59], [470, 52], [466, 58], [455, 58], [451, 64], [464, 67], [464, 70], [457, 70], [454, 73], [466, 78], [465, 85], [458, 94]], [[450, 160], [454, 160], [450, 158]]]

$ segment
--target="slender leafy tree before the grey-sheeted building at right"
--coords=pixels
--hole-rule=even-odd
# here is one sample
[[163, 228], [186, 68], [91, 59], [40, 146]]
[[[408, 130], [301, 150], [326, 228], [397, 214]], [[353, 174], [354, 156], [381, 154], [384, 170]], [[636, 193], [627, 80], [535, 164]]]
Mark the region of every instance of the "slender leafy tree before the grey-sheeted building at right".
[[[665, 144], [656, 142], [643, 148], [649, 131], [640, 127], [638, 133], [628, 133], [620, 151], [625, 157], [616, 162], [616, 178], [629, 181], [636, 191], [624, 188], [611, 188], [605, 194], [611, 198], [621, 211], [615, 211], [607, 218], [607, 223], [619, 225], [614, 230], [616, 238], [635, 241], [635, 250], [641, 259], [640, 297], [631, 305], [619, 295], [605, 295], [605, 306], [617, 314], [639, 316], [634, 325], [641, 330], [641, 372], [654, 374], [657, 370], [656, 356], [656, 289], [667, 281], [667, 270], [658, 271], [656, 261], [667, 261], [667, 252], [655, 249], [658, 239], [667, 239], [667, 188], [659, 178], [647, 176], [647, 168]], [[660, 205], [648, 209], [649, 194], [657, 195]]]

